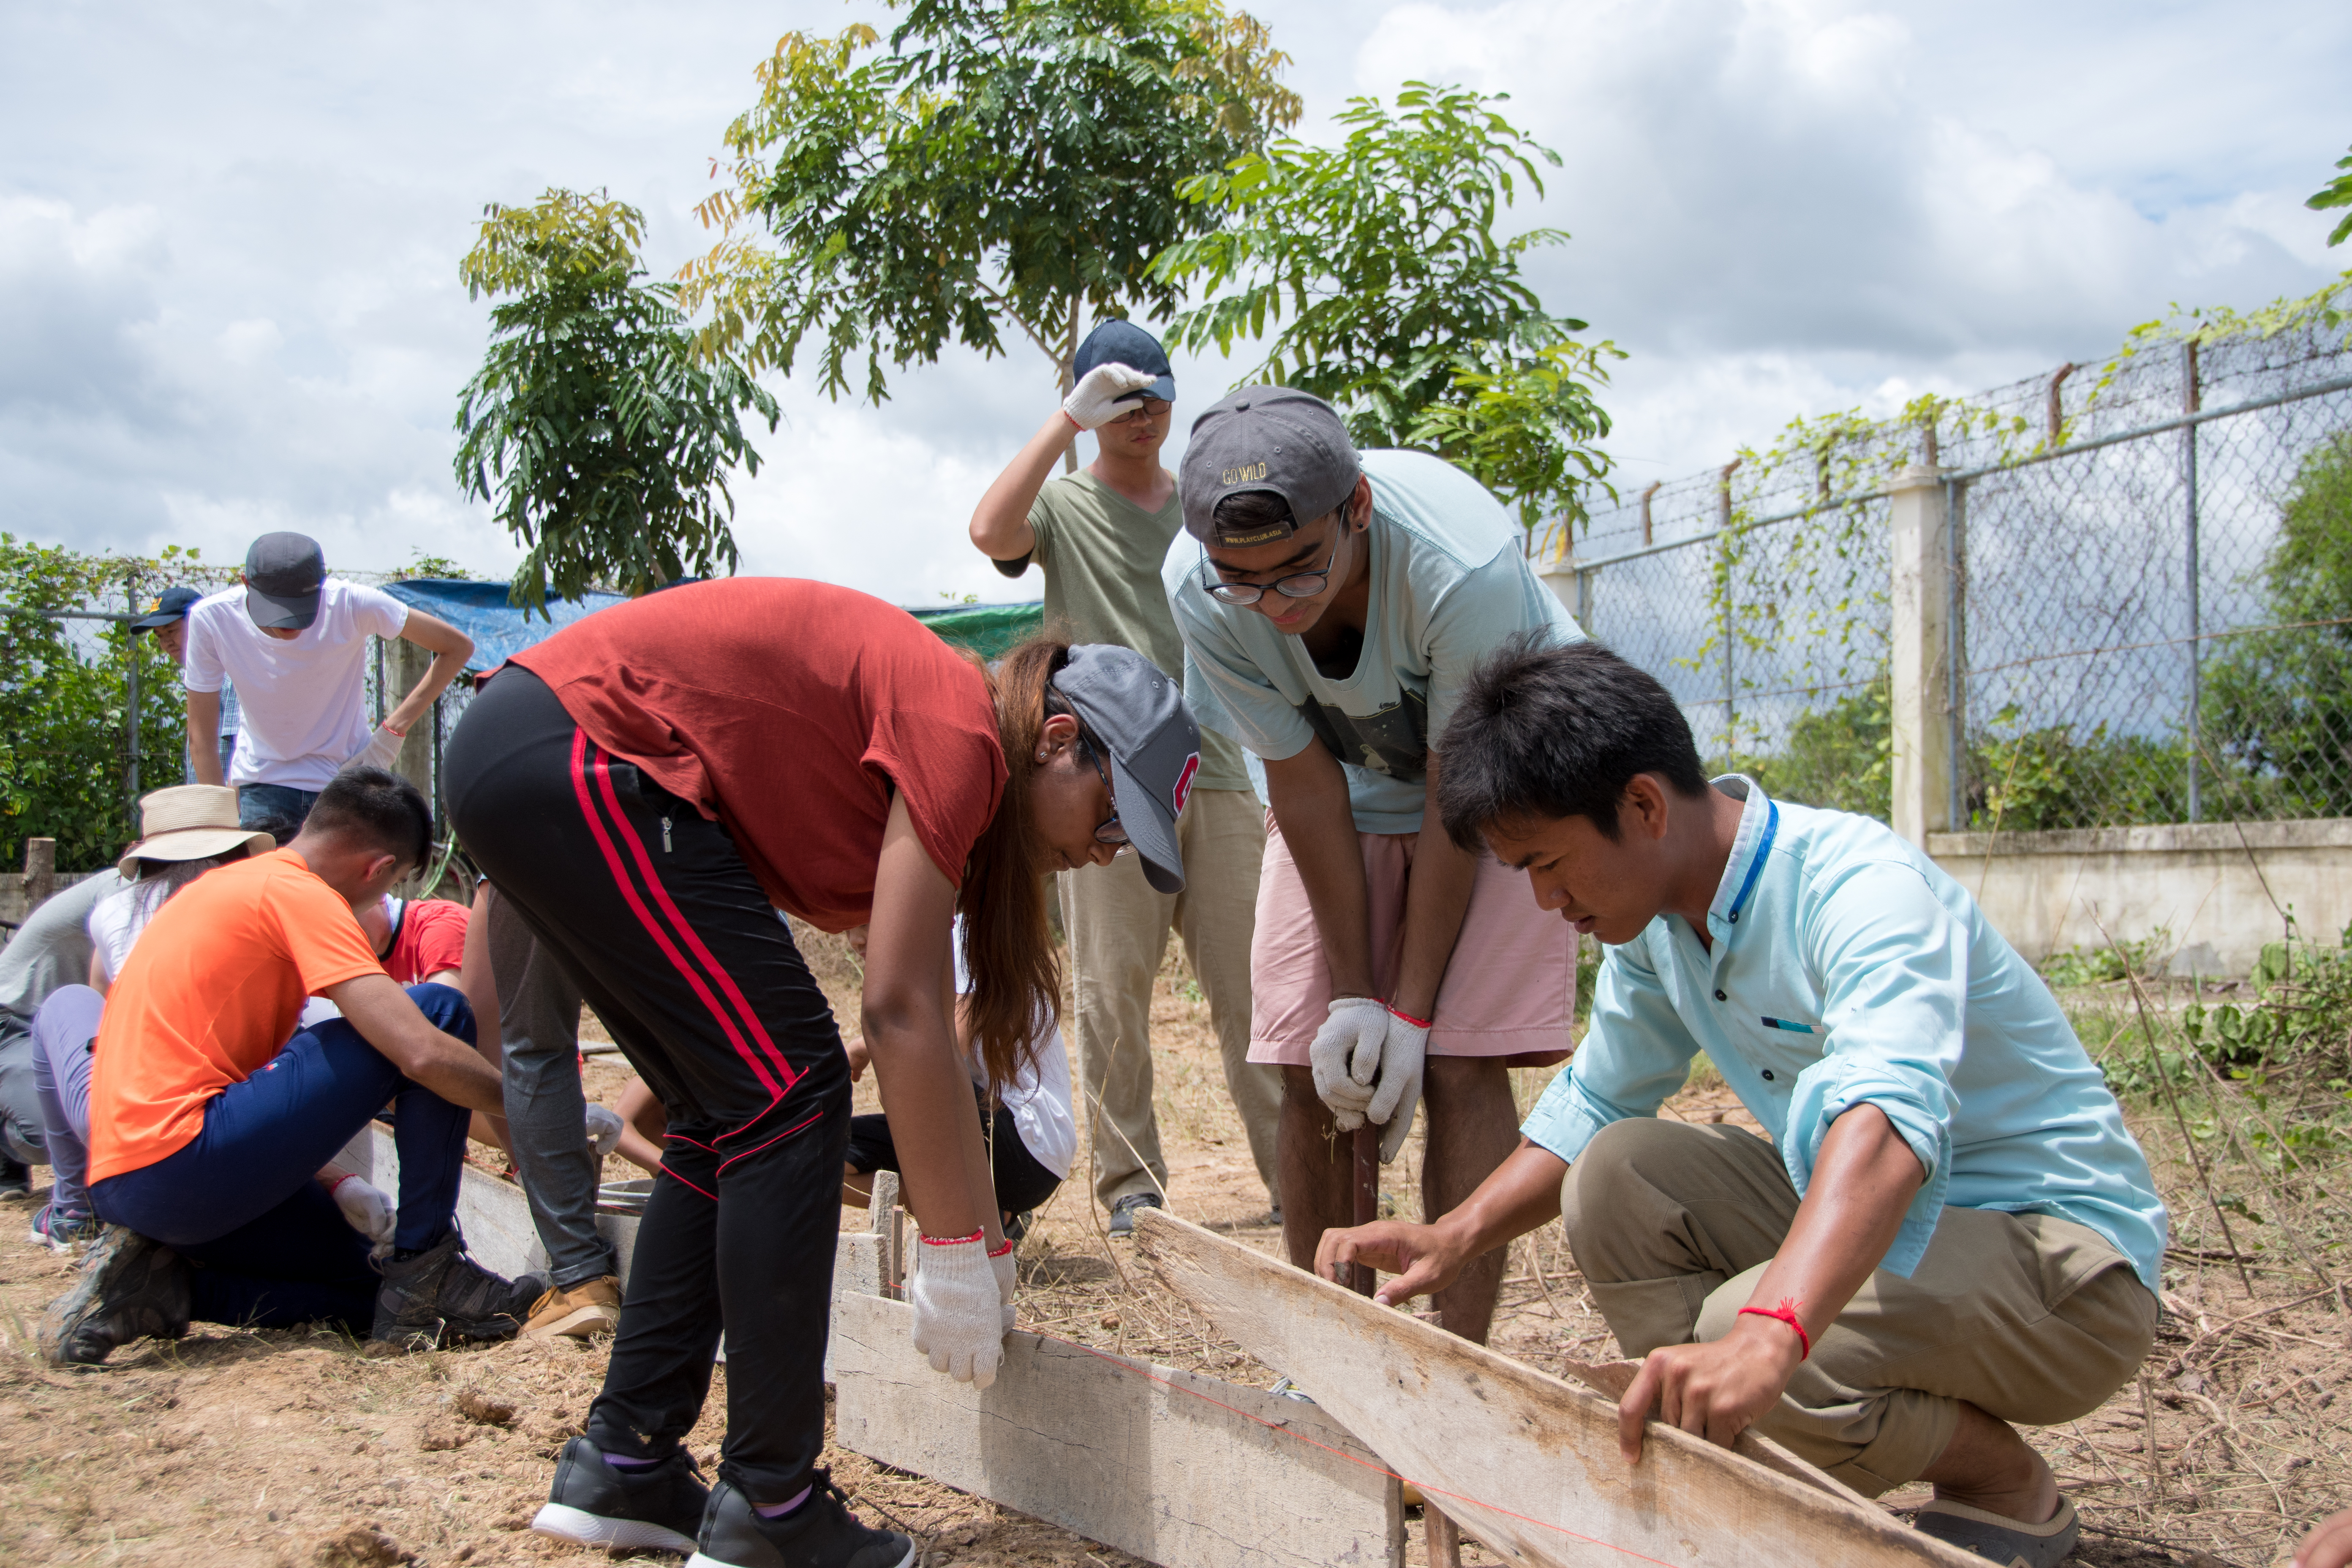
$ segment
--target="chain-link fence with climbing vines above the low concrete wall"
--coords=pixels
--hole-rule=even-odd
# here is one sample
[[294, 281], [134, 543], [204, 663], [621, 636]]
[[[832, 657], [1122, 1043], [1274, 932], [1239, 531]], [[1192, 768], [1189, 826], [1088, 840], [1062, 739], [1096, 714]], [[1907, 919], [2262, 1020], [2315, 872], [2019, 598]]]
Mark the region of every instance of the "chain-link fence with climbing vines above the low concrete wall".
[[[1585, 628], [1715, 766], [1889, 813], [1889, 477], [1943, 470], [1955, 827], [2352, 816], [2352, 353], [2143, 348], [1630, 494], [1564, 552]], [[1940, 823], [1938, 823], [1940, 825]]]

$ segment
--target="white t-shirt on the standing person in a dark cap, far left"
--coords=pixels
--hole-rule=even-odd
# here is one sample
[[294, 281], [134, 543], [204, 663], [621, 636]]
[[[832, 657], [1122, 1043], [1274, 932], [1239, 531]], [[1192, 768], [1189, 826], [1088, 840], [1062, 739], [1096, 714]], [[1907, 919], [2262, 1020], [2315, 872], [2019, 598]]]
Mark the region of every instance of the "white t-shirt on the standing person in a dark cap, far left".
[[322, 790], [367, 745], [367, 639], [397, 637], [409, 607], [381, 588], [327, 578], [318, 621], [299, 637], [266, 637], [245, 614], [245, 588], [188, 609], [188, 691], [238, 684], [238, 752], [228, 783]]

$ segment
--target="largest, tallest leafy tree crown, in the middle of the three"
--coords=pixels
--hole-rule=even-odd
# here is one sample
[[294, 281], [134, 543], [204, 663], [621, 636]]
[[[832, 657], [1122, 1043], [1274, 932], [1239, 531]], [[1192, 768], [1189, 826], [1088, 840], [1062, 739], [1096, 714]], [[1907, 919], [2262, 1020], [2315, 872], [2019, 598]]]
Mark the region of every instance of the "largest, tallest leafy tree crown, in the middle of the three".
[[1298, 120], [1287, 63], [1221, 0], [913, 0], [887, 45], [788, 33], [699, 209], [703, 346], [790, 374], [814, 334], [826, 395], [861, 376], [882, 402], [884, 362], [1002, 353], [1009, 324], [1068, 386], [1089, 313], [1176, 306], [1150, 261], [1216, 221], [1176, 186]]

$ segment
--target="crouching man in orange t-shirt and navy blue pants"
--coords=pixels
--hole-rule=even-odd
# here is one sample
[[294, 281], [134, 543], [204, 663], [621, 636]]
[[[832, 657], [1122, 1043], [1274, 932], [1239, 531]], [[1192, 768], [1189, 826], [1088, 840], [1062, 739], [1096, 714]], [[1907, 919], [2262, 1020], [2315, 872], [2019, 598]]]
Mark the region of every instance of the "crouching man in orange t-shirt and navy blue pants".
[[[409, 1347], [522, 1324], [539, 1281], [480, 1269], [456, 1234], [466, 1119], [499, 1110], [473, 1011], [447, 985], [402, 992], [353, 917], [423, 863], [428, 835], [414, 785], [348, 769], [292, 844], [202, 877], [141, 933], [92, 1046], [106, 1229], [42, 1316], [52, 1363], [191, 1321], [329, 1321]], [[296, 1032], [306, 997], [343, 1016]], [[400, 1211], [379, 1276], [315, 1173], [386, 1103]]]

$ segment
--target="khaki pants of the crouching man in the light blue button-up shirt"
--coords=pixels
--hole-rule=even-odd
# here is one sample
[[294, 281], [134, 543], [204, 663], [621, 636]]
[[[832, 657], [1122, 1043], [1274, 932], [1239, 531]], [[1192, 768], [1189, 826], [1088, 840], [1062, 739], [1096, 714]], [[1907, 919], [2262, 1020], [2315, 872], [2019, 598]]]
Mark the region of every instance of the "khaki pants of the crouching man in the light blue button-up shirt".
[[[1559, 1187], [1576, 1267], [1628, 1356], [1719, 1340], [1755, 1295], [1797, 1190], [1752, 1133], [1616, 1121]], [[2157, 1335], [2157, 1298], [2098, 1232], [1945, 1208], [1910, 1279], [1875, 1272], [1757, 1429], [1853, 1490], [1915, 1481], [1959, 1401], [2025, 1427], [2096, 1410]]]

